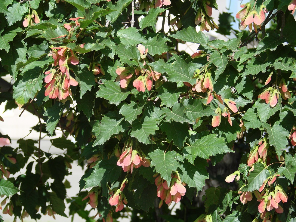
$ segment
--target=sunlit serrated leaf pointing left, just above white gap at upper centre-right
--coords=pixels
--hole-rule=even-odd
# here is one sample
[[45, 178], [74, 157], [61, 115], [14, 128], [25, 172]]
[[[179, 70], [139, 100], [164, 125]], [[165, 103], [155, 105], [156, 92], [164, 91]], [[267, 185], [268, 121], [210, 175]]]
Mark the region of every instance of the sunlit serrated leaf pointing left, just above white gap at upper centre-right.
[[196, 32], [196, 29], [189, 26], [187, 29], [177, 31], [174, 35], [169, 35], [175, 39], [181, 39], [185, 42], [193, 42], [201, 45], [207, 45], [209, 37], [202, 32]]

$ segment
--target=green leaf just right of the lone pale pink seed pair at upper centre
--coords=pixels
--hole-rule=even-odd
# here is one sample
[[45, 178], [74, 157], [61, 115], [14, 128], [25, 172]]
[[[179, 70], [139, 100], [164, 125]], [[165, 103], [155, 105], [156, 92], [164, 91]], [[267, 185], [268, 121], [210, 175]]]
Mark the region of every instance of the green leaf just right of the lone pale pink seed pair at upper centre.
[[171, 42], [170, 39], [167, 37], [160, 37], [155, 36], [153, 38], [149, 38], [143, 45], [148, 48], [148, 53], [152, 56], [158, 54], [161, 55], [162, 53], [165, 53], [172, 49], [172, 47], [168, 47], [166, 42]]

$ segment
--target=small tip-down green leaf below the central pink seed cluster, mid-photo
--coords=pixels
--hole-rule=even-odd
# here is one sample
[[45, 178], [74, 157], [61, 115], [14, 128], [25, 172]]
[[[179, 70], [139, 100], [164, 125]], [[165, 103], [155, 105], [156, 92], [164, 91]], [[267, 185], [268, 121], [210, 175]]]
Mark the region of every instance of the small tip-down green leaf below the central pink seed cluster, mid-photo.
[[119, 113], [124, 116], [126, 121], [131, 123], [137, 118], [138, 115], [142, 113], [143, 107], [144, 103], [135, 103], [134, 101], [131, 101], [130, 104], [124, 104], [120, 108]]

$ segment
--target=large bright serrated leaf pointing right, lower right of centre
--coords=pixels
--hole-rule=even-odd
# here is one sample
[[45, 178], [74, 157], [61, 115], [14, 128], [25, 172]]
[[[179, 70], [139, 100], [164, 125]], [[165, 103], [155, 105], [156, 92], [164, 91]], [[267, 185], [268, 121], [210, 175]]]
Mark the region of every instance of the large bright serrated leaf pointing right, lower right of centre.
[[224, 138], [217, 138], [216, 134], [209, 134], [197, 139], [191, 146], [184, 147], [184, 158], [194, 164], [197, 156], [203, 159], [209, 159], [211, 156], [222, 153], [233, 153], [230, 150]]

